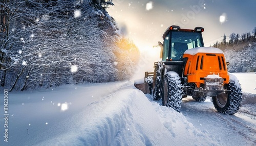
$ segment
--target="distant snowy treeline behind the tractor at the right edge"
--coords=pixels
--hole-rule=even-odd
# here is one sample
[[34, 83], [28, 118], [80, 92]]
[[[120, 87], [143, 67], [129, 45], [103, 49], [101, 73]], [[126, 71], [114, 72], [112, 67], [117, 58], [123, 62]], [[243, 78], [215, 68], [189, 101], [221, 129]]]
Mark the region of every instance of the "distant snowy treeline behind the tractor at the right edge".
[[229, 72], [256, 72], [256, 27], [252, 32], [231, 33], [229, 40], [224, 34], [223, 40], [212, 45], [220, 48], [224, 54]]

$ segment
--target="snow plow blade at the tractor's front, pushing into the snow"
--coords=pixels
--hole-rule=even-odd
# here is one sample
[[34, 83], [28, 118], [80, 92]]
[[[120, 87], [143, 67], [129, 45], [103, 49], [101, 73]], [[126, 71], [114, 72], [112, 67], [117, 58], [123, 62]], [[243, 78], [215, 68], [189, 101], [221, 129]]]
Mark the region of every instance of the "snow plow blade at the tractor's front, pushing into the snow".
[[134, 86], [141, 90], [144, 94], [150, 93], [150, 87], [148, 86], [148, 83], [145, 81], [147, 77], [151, 77], [154, 75], [154, 72], [145, 72], [145, 78], [144, 79], [138, 79], [134, 81]]

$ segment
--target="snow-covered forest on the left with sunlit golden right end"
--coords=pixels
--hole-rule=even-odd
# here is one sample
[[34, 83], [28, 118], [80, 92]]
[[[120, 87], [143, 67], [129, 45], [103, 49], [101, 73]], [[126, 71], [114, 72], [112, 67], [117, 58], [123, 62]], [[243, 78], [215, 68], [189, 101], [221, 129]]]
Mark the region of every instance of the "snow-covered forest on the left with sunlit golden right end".
[[12, 90], [126, 80], [138, 47], [117, 33], [102, 0], [0, 2], [1, 87]]

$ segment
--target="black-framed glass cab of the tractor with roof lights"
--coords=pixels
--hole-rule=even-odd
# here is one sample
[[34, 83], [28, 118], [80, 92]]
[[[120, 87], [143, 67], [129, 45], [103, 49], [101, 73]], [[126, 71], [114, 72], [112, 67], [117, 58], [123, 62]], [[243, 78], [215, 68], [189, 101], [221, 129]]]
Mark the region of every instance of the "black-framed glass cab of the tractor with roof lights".
[[163, 34], [163, 47], [160, 58], [162, 61], [182, 61], [186, 50], [204, 46], [201, 27], [194, 30], [181, 29], [179, 26], [170, 26]]

